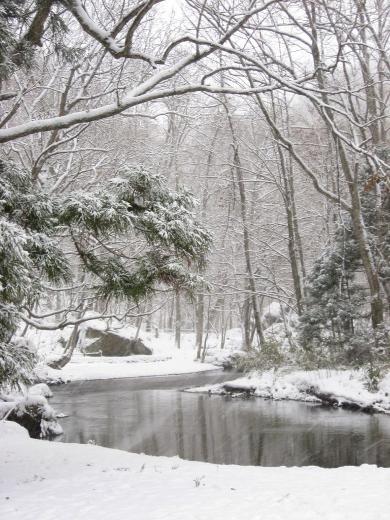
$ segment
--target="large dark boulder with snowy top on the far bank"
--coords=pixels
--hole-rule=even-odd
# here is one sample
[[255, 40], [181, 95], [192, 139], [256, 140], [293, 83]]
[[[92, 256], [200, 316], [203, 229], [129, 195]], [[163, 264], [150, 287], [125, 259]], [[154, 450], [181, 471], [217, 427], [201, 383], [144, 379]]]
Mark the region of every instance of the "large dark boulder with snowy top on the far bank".
[[88, 327], [85, 330], [83, 351], [89, 355], [101, 356], [150, 356], [152, 351], [140, 339], [132, 340], [116, 332], [101, 331]]

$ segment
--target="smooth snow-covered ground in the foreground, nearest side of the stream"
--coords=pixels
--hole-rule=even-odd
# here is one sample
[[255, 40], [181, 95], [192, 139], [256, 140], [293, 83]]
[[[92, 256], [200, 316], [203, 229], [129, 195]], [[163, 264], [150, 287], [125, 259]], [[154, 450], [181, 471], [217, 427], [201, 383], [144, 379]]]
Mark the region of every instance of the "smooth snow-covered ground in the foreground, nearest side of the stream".
[[223, 466], [30, 439], [0, 423], [7, 520], [388, 520], [390, 469]]

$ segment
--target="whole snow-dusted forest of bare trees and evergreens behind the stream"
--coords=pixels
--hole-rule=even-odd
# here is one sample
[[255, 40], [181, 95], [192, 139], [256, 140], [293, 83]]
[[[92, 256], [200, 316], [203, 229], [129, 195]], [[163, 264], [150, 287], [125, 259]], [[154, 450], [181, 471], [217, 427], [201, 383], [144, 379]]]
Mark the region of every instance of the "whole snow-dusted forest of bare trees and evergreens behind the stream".
[[[196, 331], [199, 357], [209, 332], [223, 348], [238, 327], [265, 352], [278, 304], [313, 359], [387, 355], [388, 0], [21, 5], [0, 6], [4, 352], [20, 321], [77, 327], [91, 312], [177, 346]], [[103, 200], [124, 171], [127, 227]], [[66, 276], [30, 231], [57, 244]], [[134, 277], [147, 290], [122, 290]]]

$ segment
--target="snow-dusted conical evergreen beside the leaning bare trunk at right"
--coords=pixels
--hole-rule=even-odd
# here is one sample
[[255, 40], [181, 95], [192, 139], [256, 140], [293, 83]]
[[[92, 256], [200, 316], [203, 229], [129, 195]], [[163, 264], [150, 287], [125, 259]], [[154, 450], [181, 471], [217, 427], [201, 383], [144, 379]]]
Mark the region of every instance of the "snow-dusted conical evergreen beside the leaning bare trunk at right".
[[[390, 150], [381, 146], [378, 156], [387, 162]], [[363, 219], [382, 288], [390, 304], [390, 191], [387, 173], [362, 168], [360, 199]], [[368, 293], [363, 287], [361, 259], [352, 221], [344, 216], [332, 243], [315, 261], [306, 285], [306, 313], [300, 318], [299, 341], [319, 363], [372, 362], [376, 348], [387, 344], [385, 327], [369, 327]], [[371, 341], [372, 340], [372, 341]], [[382, 355], [382, 354], [380, 354]]]

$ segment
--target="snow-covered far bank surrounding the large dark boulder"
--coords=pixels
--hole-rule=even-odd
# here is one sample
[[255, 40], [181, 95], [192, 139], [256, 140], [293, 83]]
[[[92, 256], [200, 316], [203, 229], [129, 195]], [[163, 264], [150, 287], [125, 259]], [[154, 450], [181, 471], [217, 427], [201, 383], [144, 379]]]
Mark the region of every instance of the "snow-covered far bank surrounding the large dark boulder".
[[[88, 326], [93, 326], [97, 330], [106, 328], [106, 324], [101, 320], [93, 320], [88, 323]], [[132, 339], [136, 330], [134, 327], [127, 327], [118, 330], [118, 333]], [[134, 378], [215, 370], [220, 368], [222, 361], [231, 354], [231, 349], [238, 350], [241, 344], [239, 329], [229, 331], [224, 350], [218, 348], [218, 338], [210, 335], [207, 356], [205, 362], [201, 363], [196, 360], [194, 333], [182, 334], [180, 349], [178, 349], [170, 334], [161, 333], [159, 337], [154, 337], [153, 333], [143, 332], [140, 338], [152, 350], [151, 356], [90, 357], [84, 356], [80, 353], [80, 349], [76, 349], [71, 361], [61, 370], [48, 368], [46, 361], [62, 354], [63, 345], [69, 334], [70, 330], [29, 331], [28, 339], [38, 347], [37, 354], [41, 361], [35, 372], [42, 381]]]

